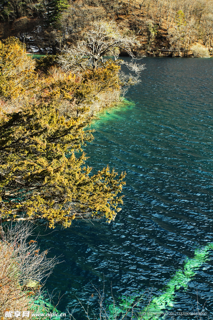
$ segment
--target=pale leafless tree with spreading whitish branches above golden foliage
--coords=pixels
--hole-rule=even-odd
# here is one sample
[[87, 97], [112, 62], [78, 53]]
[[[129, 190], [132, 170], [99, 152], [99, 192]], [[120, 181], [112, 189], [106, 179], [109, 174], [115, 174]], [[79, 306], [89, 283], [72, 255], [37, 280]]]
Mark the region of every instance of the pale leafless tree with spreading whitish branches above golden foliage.
[[[139, 45], [136, 36], [127, 36], [114, 22], [97, 21], [92, 23], [91, 30], [83, 35], [82, 40], [71, 48], [65, 48], [62, 55], [59, 56], [59, 62], [64, 70], [78, 72], [85, 69], [96, 69], [98, 65], [103, 64], [104, 57], [112, 55], [115, 60], [118, 59], [120, 50], [136, 59], [132, 51], [135, 45]], [[63, 54], [64, 53], [64, 54]], [[120, 64], [133, 71], [140, 72], [144, 69], [142, 65], [135, 63], [126, 63], [119, 60]]]

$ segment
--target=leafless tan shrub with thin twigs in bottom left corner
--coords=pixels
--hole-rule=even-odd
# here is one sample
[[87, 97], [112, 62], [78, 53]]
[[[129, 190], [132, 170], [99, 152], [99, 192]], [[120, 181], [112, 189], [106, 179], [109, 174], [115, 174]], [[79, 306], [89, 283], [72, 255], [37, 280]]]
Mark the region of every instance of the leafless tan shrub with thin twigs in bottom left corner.
[[39, 252], [37, 241], [29, 238], [33, 232], [29, 224], [19, 222], [0, 228], [0, 315], [4, 316], [6, 309], [32, 307], [31, 297], [40, 295], [41, 285], [57, 260], [48, 259], [47, 251]]

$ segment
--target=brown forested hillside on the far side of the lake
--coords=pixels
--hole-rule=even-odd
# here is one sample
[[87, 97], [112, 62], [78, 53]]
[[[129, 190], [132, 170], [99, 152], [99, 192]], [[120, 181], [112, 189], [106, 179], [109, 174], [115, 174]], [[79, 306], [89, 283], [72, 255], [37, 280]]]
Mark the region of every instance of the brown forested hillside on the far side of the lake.
[[78, 40], [92, 21], [104, 19], [137, 35], [142, 55], [168, 48], [173, 55], [188, 55], [191, 48], [194, 55], [199, 48], [212, 54], [212, 0], [1, 0], [0, 5], [1, 39], [16, 36], [31, 52], [55, 53]]

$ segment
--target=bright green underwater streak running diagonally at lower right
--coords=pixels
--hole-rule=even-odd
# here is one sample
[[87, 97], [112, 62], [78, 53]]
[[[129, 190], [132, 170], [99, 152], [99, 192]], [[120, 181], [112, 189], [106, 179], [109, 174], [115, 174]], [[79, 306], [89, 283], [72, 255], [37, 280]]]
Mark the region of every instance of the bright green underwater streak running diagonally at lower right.
[[[202, 264], [208, 259], [209, 251], [213, 249], [213, 243], [206, 245], [203, 248], [196, 249], [194, 252], [194, 258], [186, 259], [186, 262], [183, 265], [183, 268], [180, 268], [175, 272], [175, 274], [171, 277], [168, 284], [164, 287], [164, 292], [158, 296], [151, 299], [149, 305], [139, 311], [140, 319], [144, 320], [156, 320], [159, 319], [159, 316], [163, 319], [164, 312], [171, 310], [175, 305], [175, 291], [179, 290], [181, 287], [186, 289], [188, 287], [189, 281], [196, 274], [196, 270], [202, 266]], [[114, 319], [115, 316], [122, 315], [126, 313], [126, 310], [131, 307], [135, 303], [132, 299], [126, 299], [126, 297], [121, 298], [121, 303], [119, 306], [110, 305], [109, 308], [109, 318]], [[137, 297], [137, 300], [142, 301], [142, 298]], [[139, 308], [139, 307], [137, 307]], [[133, 313], [138, 313], [136, 311]], [[157, 315], [155, 315], [155, 313]], [[131, 317], [131, 316], [130, 316]], [[122, 318], [122, 317], [121, 317]], [[133, 316], [132, 319], [138, 319], [138, 316]]]

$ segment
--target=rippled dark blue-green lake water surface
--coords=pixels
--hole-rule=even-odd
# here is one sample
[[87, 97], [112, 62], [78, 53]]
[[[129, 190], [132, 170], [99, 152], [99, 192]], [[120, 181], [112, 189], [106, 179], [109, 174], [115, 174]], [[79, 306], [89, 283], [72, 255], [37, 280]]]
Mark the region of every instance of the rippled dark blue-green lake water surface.
[[[77, 298], [87, 300], [93, 285], [102, 288], [103, 275], [107, 299], [111, 284], [118, 302], [148, 287], [159, 297], [195, 250], [213, 243], [213, 59], [143, 63], [147, 69], [127, 93], [129, 102], [99, 113], [95, 140], [85, 148], [94, 172], [107, 164], [126, 171], [122, 211], [111, 224], [81, 221], [41, 237], [43, 247], [65, 260], [47, 282], [49, 291], [64, 294], [62, 311]], [[200, 309], [207, 300], [212, 319], [213, 250], [185, 288], [175, 289], [170, 309], [193, 311], [197, 297]], [[147, 301], [145, 293], [142, 306]], [[96, 310], [95, 297], [92, 305]], [[75, 317], [86, 319], [80, 308]]]

